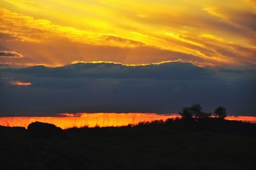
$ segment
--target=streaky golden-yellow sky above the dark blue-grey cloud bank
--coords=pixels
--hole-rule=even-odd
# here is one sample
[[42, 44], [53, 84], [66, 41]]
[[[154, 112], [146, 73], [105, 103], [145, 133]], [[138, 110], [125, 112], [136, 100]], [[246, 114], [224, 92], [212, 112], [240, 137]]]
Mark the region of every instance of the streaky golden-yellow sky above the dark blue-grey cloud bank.
[[255, 0], [3, 0], [0, 5], [2, 64], [178, 59], [256, 64]]

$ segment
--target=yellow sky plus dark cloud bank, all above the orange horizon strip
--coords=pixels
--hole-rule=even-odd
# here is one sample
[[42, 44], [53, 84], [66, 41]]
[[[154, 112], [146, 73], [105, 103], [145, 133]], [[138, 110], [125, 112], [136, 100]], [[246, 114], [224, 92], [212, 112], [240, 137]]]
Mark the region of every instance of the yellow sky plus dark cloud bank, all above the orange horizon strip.
[[2, 0], [0, 116], [256, 116], [255, 55], [255, 0]]

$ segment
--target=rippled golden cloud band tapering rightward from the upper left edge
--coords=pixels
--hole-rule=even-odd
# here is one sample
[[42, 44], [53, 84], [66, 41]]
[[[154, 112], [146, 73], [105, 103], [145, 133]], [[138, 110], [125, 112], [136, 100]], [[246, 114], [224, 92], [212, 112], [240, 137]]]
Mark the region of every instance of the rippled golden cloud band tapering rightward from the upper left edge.
[[68, 39], [72, 42], [90, 43], [92, 45], [111, 45], [118, 47], [134, 47], [139, 42], [120, 38], [115, 35], [104, 35], [92, 31], [84, 31], [68, 26], [58, 26], [49, 20], [33, 19], [26, 15], [10, 12], [0, 8], [0, 33], [18, 38], [22, 42], [51, 42]]

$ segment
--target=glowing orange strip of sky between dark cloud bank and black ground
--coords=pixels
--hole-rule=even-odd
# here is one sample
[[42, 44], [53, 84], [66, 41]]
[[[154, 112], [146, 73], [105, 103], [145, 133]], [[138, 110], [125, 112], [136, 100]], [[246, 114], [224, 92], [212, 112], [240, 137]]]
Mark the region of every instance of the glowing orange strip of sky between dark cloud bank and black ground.
[[[25, 127], [30, 123], [40, 121], [51, 123], [57, 127], [67, 129], [72, 127], [122, 127], [136, 125], [140, 122], [180, 118], [179, 114], [156, 113], [62, 113], [58, 116], [48, 117], [2, 117], [0, 125], [4, 127]], [[256, 123], [255, 116], [227, 116], [226, 120], [248, 121]]]

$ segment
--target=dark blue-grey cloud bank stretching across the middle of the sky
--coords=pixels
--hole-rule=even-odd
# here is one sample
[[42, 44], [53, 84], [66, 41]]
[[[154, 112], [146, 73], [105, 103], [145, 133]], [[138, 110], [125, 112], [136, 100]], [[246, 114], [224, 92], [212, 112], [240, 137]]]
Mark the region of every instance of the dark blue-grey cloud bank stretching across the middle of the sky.
[[[56, 68], [0, 68], [0, 116], [58, 112], [177, 112], [200, 103], [256, 116], [256, 70], [173, 62], [124, 66], [77, 63]], [[10, 81], [31, 82], [14, 86]]]

